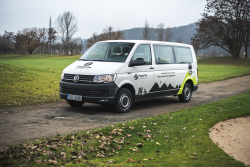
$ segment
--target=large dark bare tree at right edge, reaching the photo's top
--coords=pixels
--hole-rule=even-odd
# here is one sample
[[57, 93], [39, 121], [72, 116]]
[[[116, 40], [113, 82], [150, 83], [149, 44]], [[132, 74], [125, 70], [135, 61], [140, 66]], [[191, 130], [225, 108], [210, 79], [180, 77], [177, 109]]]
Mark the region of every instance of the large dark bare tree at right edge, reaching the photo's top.
[[198, 28], [194, 43], [201, 49], [219, 46], [233, 58], [240, 55], [246, 36], [249, 36], [249, 0], [208, 0], [202, 18], [196, 23]]

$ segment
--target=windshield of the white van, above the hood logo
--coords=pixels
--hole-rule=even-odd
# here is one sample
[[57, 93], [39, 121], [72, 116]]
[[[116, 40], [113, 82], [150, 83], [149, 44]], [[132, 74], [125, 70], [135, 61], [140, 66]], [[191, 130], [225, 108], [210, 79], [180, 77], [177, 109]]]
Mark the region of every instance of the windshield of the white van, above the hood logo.
[[134, 43], [100, 42], [91, 46], [79, 60], [125, 62]]

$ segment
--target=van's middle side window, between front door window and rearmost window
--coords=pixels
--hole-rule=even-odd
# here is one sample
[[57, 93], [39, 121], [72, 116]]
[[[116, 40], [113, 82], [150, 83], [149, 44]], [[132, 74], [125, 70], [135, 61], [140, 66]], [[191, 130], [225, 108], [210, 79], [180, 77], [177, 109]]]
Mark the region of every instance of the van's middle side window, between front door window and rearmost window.
[[156, 64], [174, 63], [174, 54], [171, 46], [154, 45]]

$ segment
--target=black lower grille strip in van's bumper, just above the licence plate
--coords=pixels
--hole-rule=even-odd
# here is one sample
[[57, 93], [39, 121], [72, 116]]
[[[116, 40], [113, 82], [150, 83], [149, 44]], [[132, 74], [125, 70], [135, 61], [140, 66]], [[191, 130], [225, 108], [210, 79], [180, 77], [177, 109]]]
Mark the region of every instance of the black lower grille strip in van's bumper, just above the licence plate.
[[90, 97], [108, 97], [110, 96], [109, 90], [82, 90], [60, 87], [60, 92], [64, 94], [82, 95]]

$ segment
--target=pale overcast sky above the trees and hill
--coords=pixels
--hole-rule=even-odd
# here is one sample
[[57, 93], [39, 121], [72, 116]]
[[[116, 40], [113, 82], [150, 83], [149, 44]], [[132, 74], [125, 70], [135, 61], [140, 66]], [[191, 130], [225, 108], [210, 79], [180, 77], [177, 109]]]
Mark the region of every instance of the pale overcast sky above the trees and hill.
[[0, 0], [0, 34], [23, 28], [49, 27], [65, 11], [78, 20], [75, 37], [89, 38], [111, 25], [115, 30], [143, 27], [147, 19], [157, 27], [177, 27], [201, 18], [206, 0]]

